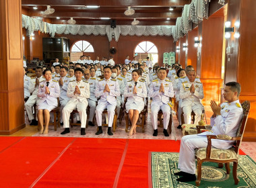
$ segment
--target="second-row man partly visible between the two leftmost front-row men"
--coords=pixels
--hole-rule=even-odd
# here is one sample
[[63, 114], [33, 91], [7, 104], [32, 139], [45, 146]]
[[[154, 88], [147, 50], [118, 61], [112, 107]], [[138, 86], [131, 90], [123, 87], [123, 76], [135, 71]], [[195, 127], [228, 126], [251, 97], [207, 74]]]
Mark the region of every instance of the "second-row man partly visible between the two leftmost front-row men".
[[[91, 68], [91, 70], [92, 69], [95, 71], [94, 68]], [[96, 102], [98, 101], [97, 97], [95, 97], [95, 95], [94, 95], [94, 92], [95, 92], [96, 84], [98, 83], [98, 80], [94, 77], [91, 77], [90, 71], [89, 71], [89, 69], [86, 69], [86, 71], [84, 71], [84, 81], [87, 81], [90, 85], [90, 98], [88, 99], [88, 104], [90, 106], [90, 115], [89, 115], [89, 119], [88, 119], [89, 120], [88, 125], [94, 126], [94, 124], [92, 123], [92, 120], [95, 115]]]

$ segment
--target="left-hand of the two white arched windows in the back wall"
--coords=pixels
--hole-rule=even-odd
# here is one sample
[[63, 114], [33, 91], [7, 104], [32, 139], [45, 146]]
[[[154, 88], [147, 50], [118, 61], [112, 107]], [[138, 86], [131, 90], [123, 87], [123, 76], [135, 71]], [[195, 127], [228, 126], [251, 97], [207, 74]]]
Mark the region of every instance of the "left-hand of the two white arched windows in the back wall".
[[71, 61], [76, 62], [79, 60], [80, 56], [82, 56], [84, 52], [94, 52], [94, 47], [92, 47], [92, 44], [86, 40], [79, 40], [75, 42], [71, 48]]

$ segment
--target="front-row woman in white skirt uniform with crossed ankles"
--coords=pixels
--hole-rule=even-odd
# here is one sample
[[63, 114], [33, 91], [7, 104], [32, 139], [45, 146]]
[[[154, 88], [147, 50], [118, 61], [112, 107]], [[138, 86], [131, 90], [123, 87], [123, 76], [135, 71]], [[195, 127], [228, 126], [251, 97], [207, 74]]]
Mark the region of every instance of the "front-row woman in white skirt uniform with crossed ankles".
[[131, 120], [129, 136], [136, 133], [136, 123], [139, 118], [139, 113], [144, 109], [143, 97], [148, 96], [146, 84], [144, 81], [139, 80], [141, 72], [139, 70], [133, 70], [131, 76], [132, 80], [127, 82], [124, 93], [124, 97], [128, 97], [125, 108]]

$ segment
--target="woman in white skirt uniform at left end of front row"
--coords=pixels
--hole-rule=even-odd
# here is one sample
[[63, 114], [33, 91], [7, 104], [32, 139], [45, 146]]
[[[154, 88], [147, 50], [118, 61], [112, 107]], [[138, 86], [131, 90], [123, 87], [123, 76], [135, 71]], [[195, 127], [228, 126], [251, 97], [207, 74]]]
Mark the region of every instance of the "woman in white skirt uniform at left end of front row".
[[[59, 82], [52, 80], [51, 69], [46, 69], [42, 73], [45, 81], [39, 83], [37, 97], [38, 100], [38, 126], [40, 134], [48, 134], [48, 127], [50, 121], [50, 111], [58, 106], [58, 99], [61, 91]], [[45, 122], [45, 128], [43, 127]]]

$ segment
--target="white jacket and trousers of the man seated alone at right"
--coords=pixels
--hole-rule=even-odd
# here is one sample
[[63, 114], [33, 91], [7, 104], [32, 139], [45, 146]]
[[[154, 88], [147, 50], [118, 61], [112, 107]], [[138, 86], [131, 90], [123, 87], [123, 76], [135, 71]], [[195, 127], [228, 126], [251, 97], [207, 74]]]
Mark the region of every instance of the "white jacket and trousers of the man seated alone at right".
[[[178, 168], [185, 173], [195, 174], [195, 148], [205, 148], [207, 146], [207, 134], [226, 134], [235, 136], [238, 126], [243, 118], [243, 108], [239, 100], [232, 103], [222, 103], [221, 115], [211, 118], [211, 132], [183, 136], [181, 139], [181, 149], [179, 154]], [[228, 149], [234, 141], [212, 140], [212, 146], [219, 149]]]

